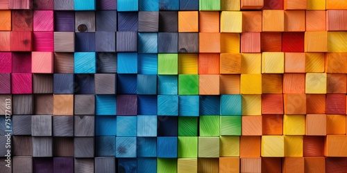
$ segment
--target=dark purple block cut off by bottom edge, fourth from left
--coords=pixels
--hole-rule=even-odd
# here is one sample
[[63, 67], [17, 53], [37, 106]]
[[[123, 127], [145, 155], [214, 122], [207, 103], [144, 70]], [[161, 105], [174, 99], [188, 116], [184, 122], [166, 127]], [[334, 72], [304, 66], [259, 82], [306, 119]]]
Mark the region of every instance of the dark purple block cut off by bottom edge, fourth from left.
[[55, 157], [53, 158], [54, 173], [73, 173], [74, 158], [73, 157]]

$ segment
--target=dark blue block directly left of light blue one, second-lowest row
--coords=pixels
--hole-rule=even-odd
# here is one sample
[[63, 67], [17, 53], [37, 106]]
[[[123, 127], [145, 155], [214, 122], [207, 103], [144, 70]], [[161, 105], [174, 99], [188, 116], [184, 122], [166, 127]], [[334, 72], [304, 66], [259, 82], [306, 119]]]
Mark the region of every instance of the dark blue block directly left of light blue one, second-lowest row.
[[96, 136], [96, 156], [115, 156], [116, 137]]

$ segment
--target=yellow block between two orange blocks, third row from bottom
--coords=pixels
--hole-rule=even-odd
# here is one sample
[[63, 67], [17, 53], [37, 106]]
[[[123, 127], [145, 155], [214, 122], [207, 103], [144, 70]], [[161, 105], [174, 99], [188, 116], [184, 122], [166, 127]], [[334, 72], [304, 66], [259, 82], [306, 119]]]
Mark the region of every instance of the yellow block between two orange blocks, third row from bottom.
[[285, 115], [283, 118], [284, 135], [305, 135], [304, 115]]

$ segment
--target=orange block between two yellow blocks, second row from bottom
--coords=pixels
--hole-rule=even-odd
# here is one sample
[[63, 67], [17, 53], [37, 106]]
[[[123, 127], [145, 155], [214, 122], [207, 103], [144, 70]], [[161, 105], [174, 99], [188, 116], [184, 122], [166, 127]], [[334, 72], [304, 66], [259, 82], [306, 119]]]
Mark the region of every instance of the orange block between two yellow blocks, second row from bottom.
[[240, 158], [260, 157], [261, 136], [240, 136]]

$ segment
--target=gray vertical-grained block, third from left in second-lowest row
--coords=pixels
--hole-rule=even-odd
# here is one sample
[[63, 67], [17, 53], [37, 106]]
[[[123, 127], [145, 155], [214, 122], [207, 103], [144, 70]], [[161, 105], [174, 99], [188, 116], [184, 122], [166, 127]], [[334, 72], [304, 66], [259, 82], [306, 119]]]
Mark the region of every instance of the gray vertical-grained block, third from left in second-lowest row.
[[52, 137], [33, 137], [33, 156], [52, 157], [53, 138]]

